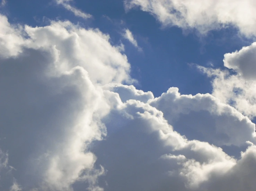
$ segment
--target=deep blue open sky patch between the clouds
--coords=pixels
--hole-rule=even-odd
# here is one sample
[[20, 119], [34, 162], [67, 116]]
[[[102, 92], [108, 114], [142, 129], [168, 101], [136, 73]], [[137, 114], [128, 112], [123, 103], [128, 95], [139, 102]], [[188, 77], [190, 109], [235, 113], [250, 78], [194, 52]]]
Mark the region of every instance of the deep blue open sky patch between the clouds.
[[[152, 91], [155, 96], [179, 87], [183, 94], [211, 93], [210, 79], [203, 76], [190, 63], [215, 68], [223, 67], [223, 55], [248, 46], [252, 40], [239, 38], [237, 29], [214, 30], [206, 35], [177, 27], [162, 27], [154, 17], [138, 9], [125, 12], [122, 1], [75, 1], [72, 5], [93, 15], [84, 20], [77, 18], [54, 1], [10, 1], [3, 12], [12, 22], [45, 26], [48, 20], [70, 20], [86, 28], [99, 28], [111, 37], [111, 42], [125, 45], [125, 54], [131, 63], [131, 76], [138, 80], [135, 87]], [[29, 10], [29, 11], [28, 11]], [[143, 49], [138, 52], [122, 37], [128, 28]]]

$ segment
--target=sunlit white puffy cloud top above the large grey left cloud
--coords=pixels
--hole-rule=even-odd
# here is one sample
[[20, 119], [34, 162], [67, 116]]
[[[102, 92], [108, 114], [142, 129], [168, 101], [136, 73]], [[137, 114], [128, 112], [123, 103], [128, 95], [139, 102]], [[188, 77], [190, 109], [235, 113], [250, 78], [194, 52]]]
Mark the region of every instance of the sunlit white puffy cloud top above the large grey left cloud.
[[33, 41], [28, 47], [47, 47], [54, 52], [59, 72], [81, 66], [94, 83], [131, 81], [127, 57], [111, 46], [109, 35], [98, 29], [86, 30], [70, 22], [52, 22], [46, 27], [26, 26], [25, 31]]

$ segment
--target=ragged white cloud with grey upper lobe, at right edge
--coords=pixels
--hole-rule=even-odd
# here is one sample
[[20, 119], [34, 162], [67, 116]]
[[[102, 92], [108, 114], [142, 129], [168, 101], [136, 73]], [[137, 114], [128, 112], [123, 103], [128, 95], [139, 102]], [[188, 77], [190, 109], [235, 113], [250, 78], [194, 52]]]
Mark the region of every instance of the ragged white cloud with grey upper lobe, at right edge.
[[239, 51], [224, 55], [224, 66], [229, 71], [203, 69], [208, 76], [214, 76], [213, 96], [229, 103], [251, 119], [256, 117], [256, 43]]

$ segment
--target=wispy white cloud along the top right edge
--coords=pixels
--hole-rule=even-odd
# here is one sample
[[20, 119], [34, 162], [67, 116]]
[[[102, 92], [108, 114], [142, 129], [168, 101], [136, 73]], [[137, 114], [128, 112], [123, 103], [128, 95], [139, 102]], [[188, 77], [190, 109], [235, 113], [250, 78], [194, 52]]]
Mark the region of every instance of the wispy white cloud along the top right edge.
[[126, 9], [139, 7], [164, 26], [196, 29], [205, 34], [230, 25], [247, 37], [255, 36], [256, 3], [254, 0], [126, 0]]

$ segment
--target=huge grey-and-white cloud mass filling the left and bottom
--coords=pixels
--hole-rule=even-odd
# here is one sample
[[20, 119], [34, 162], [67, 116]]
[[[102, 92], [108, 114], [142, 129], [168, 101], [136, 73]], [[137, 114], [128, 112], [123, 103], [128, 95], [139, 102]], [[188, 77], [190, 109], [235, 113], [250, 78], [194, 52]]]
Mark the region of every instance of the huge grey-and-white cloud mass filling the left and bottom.
[[[130, 64], [99, 29], [69, 21], [14, 26], [5, 16], [0, 25], [0, 182], [6, 190], [255, 188], [255, 124], [239, 108], [214, 94], [170, 88], [154, 98], [122, 84], [133, 82]], [[241, 62], [230, 62], [240, 54], [226, 55], [225, 64], [250, 76]], [[247, 149], [231, 157], [224, 152], [229, 147]]]

